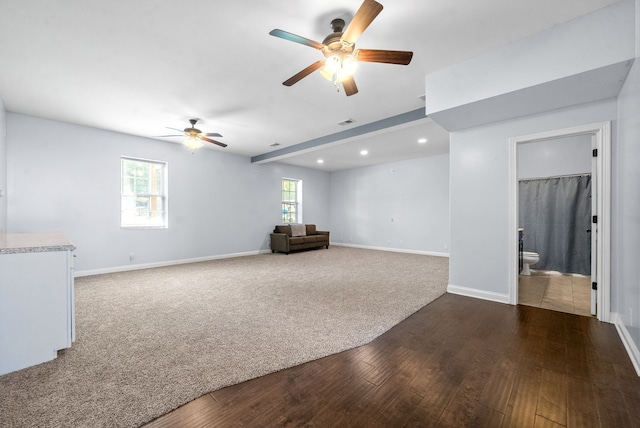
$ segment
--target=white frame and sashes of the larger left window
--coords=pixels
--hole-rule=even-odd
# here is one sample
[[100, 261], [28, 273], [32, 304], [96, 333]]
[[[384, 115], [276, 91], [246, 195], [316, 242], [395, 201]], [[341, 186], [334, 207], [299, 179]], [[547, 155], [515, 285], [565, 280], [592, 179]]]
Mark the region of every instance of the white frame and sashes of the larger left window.
[[[136, 193], [136, 192], [127, 192], [125, 193], [125, 177], [124, 177], [124, 163], [126, 161], [132, 161], [132, 162], [143, 162], [143, 163], [147, 163], [147, 164], [153, 164], [153, 165], [160, 165], [162, 167], [162, 185], [161, 185], [161, 193], [155, 194], [155, 193]], [[123, 229], [167, 229], [169, 227], [169, 214], [168, 214], [168, 177], [169, 177], [169, 164], [167, 162], [164, 161], [158, 161], [158, 160], [152, 160], [152, 159], [143, 159], [143, 158], [137, 158], [137, 157], [132, 157], [132, 156], [121, 156], [120, 157], [120, 227]], [[151, 177], [150, 177], [151, 178]], [[142, 197], [142, 198], [151, 198], [151, 197], [155, 197], [155, 198], [159, 198], [160, 199], [160, 206], [161, 208], [158, 210], [156, 209], [155, 211], [159, 211], [162, 216], [161, 216], [161, 224], [158, 223], [157, 221], [148, 221], [148, 222], [141, 222], [141, 223], [137, 223], [137, 222], [125, 222], [125, 212], [130, 212], [131, 208], [125, 208], [127, 205], [130, 204], [129, 201], [127, 201], [128, 199], [130, 199], [131, 197], [135, 197], [136, 199], [138, 197]], [[135, 208], [136, 210], [138, 209], [137, 207]], [[152, 211], [149, 211], [152, 212]], [[140, 218], [137, 218], [137, 220], [140, 220]]]

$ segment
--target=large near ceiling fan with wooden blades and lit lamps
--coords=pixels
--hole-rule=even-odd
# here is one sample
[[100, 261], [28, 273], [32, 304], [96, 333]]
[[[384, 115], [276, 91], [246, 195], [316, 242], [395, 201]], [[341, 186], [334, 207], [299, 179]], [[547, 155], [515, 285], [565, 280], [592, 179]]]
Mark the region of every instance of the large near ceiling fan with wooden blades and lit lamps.
[[358, 87], [353, 79], [353, 73], [356, 71], [359, 61], [408, 65], [413, 57], [413, 52], [355, 49], [355, 42], [381, 11], [382, 5], [380, 3], [375, 0], [364, 0], [346, 29], [344, 28], [345, 22], [343, 19], [337, 18], [331, 21], [333, 33], [329, 34], [322, 43], [287, 31], [272, 30], [269, 33], [272, 36], [321, 50], [325, 56], [325, 59], [314, 62], [307, 68], [285, 80], [282, 84], [292, 86], [304, 77], [322, 68], [320, 73], [335, 85], [337, 85], [338, 82], [342, 83], [345, 94], [350, 96], [358, 92]]

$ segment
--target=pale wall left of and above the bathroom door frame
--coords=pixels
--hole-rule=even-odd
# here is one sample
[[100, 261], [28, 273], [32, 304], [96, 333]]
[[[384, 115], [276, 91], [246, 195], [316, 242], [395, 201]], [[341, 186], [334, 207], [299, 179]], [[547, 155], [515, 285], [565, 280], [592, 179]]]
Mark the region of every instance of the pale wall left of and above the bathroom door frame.
[[450, 288], [508, 301], [509, 138], [616, 115], [610, 99], [451, 133]]

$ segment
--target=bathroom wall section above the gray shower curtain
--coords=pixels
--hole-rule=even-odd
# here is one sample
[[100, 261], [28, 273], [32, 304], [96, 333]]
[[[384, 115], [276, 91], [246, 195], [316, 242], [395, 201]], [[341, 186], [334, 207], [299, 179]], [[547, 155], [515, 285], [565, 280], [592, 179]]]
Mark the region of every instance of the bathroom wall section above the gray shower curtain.
[[518, 144], [518, 179], [591, 172], [591, 136]]

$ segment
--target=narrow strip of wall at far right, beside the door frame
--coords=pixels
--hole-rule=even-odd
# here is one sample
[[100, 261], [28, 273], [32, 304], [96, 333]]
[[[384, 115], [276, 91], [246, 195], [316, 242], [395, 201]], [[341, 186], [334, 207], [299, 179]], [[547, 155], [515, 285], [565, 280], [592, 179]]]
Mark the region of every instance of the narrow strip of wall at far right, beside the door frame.
[[613, 146], [611, 312], [640, 374], [640, 0], [635, 0], [636, 59], [618, 96]]

